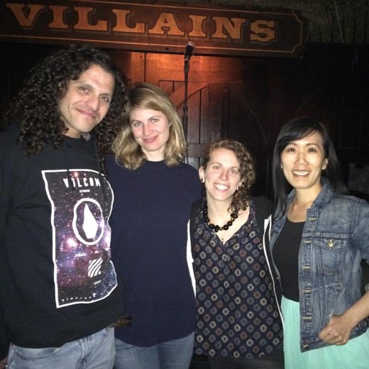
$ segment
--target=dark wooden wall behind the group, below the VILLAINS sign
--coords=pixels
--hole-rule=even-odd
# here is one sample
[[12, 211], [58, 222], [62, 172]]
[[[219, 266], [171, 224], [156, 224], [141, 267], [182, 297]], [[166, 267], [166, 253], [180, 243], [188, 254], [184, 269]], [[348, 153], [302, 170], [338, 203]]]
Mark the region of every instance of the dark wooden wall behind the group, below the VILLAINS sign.
[[[28, 70], [54, 48], [0, 43], [0, 111], [11, 104]], [[183, 55], [107, 51], [126, 75], [128, 86], [141, 81], [158, 84], [182, 116]], [[353, 167], [365, 177], [365, 168], [369, 170], [369, 48], [309, 44], [295, 59], [192, 57], [187, 141], [188, 162], [194, 167], [200, 165], [207, 143], [237, 139], [257, 160], [253, 193], [272, 197], [272, 147], [282, 124], [296, 116], [312, 116], [326, 124], [347, 182]], [[356, 194], [368, 198], [368, 187]]]

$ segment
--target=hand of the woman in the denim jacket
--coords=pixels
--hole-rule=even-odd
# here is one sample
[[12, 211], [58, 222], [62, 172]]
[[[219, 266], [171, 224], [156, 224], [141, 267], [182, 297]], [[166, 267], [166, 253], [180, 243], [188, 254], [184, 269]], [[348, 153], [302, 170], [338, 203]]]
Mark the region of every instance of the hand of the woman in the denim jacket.
[[325, 343], [341, 346], [347, 343], [355, 324], [352, 324], [347, 314], [333, 315], [328, 324], [319, 333], [319, 338]]

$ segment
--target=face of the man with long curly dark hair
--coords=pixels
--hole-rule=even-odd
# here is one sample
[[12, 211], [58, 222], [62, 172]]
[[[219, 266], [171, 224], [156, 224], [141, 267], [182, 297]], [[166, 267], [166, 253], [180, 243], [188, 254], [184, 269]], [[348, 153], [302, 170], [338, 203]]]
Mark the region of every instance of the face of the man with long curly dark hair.
[[98, 65], [71, 79], [58, 101], [60, 117], [68, 129], [65, 136], [79, 138], [97, 126], [109, 110], [114, 94], [114, 77]]

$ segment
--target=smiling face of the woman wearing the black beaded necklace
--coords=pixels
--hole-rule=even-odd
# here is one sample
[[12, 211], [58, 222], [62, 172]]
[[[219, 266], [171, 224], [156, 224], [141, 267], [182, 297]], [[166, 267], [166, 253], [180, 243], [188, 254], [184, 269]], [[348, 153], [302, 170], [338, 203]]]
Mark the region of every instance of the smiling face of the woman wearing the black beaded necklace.
[[212, 151], [206, 169], [200, 167], [199, 177], [204, 180], [209, 200], [231, 204], [233, 194], [241, 185], [240, 163], [232, 150], [217, 148]]

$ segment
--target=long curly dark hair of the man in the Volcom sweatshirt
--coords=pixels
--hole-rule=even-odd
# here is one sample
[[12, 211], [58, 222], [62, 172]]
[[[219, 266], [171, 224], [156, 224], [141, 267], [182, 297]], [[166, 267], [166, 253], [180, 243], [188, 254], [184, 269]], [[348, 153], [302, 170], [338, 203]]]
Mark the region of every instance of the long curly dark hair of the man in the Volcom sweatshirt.
[[57, 50], [36, 65], [11, 108], [4, 114], [1, 130], [9, 123], [18, 122], [18, 145], [30, 156], [40, 153], [47, 143], [56, 149], [61, 148], [67, 128], [60, 118], [58, 101], [67, 92], [70, 80], [77, 80], [92, 65], [98, 65], [109, 72], [115, 81], [109, 111], [92, 132], [97, 151], [106, 153], [118, 131], [119, 116], [126, 101], [126, 88], [121, 72], [111, 57], [91, 45], [70, 45]]

